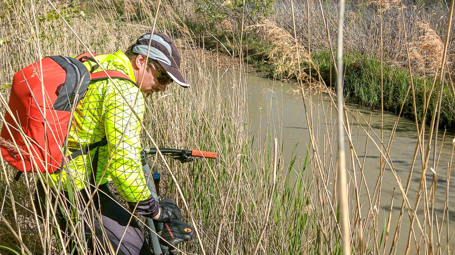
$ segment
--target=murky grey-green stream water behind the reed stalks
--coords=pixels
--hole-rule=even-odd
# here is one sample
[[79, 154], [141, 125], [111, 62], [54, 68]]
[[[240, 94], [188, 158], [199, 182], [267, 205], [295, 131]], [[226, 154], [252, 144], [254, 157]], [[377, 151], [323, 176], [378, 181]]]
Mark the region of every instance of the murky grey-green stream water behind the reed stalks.
[[[224, 81], [228, 81], [229, 78], [226, 77], [225, 79], [221, 79]], [[295, 93], [294, 84], [289, 83], [281, 83], [278, 81], [271, 81], [269, 79], [262, 78], [257, 76], [256, 74], [250, 73], [247, 75], [247, 96], [248, 96], [248, 118], [250, 123], [250, 130], [251, 133], [256, 134], [257, 137], [260, 139], [264, 139], [266, 134], [272, 134], [277, 136], [280, 142], [283, 143], [283, 157], [284, 162], [289, 162], [291, 158], [291, 154], [294, 148], [296, 148], [296, 156], [297, 156], [297, 163], [296, 165], [300, 165], [303, 162], [303, 159], [307, 152], [307, 146], [309, 144], [309, 131], [307, 120], [305, 117], [305, 109], [303, 105], [302, 98], [299, 93]], [[309, 92], [306, 91], [306, 104], [309, 105], [308, 97]], [[336, 111], [335, 108], [332, 106], [330, 102], [330, 98], [327, 95], [321, 96], [321, 94], [312, 94], [312, 116], [313, 116], [313, 126], [314, 126], [314, 134], [319, 139], [316, 139], [318, 143], [320, 143], [319, 148], [322, 151], [326, 150], [327, 155], [330, 155], [330, 146], [333, 148], [334, 155], [333, 157], [327, 156], [326, 161], [332, 160], [333, 164], [336, 164], [336, 141], [331, 145], [328, 145], [327, 141], [324, 139], [324, 136], [327, 136], [331, 130], [333, 129], [333, 136], [334, 139], [336, 138], [336, 130], [337, 127], [334, 126], [336, 123]], [[378, 149], [374, 145], [372, 141], [376, 143], [380, 143], [380, 139], [376, 138], [373, 131], [380, 137], [381, 136], [381, 112], [374, 111], [369, 109], [360, 109], [358, 106], [355, 105], [348, 105], [348, 109], [352, 112], [360, 124], [353, 120], [352, 116], [349, 116], [349, 121], [351, 123], [351, 134], [352, 134], [352, 143], [358, 155], [358, 160], [363, 165], [363, 175], [365, 176], [366, 182], [368, 184], [370, 192], [373, 192], [374, 185], [378, 179], [378, 175], [380, 173], [380, 153]], [[308, 109], [309, 110], [309, 109]], [[325, 113], [324, 113], [325, 112]], [[368, 139], [366, 132], [362, 130], [362, 127], [368, 129], [368, 125], [366, 122], [361, 118], [360, 115], [363, 115], [367, 120], [370, 119], [370, 125], [372, 130], [370, 130], [369, 134], [373, 137], [372, 139]], [[326, 117], [324, 117], [326, 116]], [[384, 141], [387, 142], [390, 138], [392, 127], [397, 119], [397, 116], [392, 113], [384, 113], [384, 129], [383, 129], [383, 137]], [[427, 127], [428, 129], [428, 127]], [[442, 134], [440, 133], [438, 136], [438, 146], [441, 144]], [[428, 137], [428, 136], [426, 136]], [[453, 132], [446, 133], [446, 139], [443, 144], [443, 148], [440, 154], [439, 166], [438, 166], [438, 183], [436, 188], [436, 196], [435, 196], [435, 207], [434, 210], [436, 212], [438, 223], [441, 224], [441, 215], [442, 210], [444, 208], [445, 200], [446, 200], [446, 192], [447, 192], [447, 164], [450, 160], [450, 153], [452, 150], [452, 139], [453, 139]], [[347, 140], [347, 137], [346, 139]], [[366, 147], [366, 143], [367, 148]], [[392, 167], [395, 169], [398, 178], [401, 179], [402, 185], [406, 185], [406, 180], [410, 173], [410, 169], [412, 166], [412, 160], [414, 151], [417, 144], [417, 136], [416, 136], [416, 128], [415, 122], [407, 119], [401, 118], [397, 132], [393, 138], [393, 143], [390, 153], [390, 159]], [[347, 145], [347, 144], [346, 144]], [[346, 146], [348, 148], [348, 146]], [[365, 153], [367, 151], [367, 153]], [[431, 157], [432, 158], [432, 157]], [[349, 160], [349, 159], [347, 159]], [[363, 161], [365, 160], [365, 163]], [[414, 207], [415, 198], [417, 194], [417, 189], [419, 186], [421, 174], [422, 174], [422, 160], [420, 157], [420, 153], [416, 158], [416, 163], [414, 164], [414, 172], [410, 181], [410, 189], [408, 192], [408, 199]], [[432, 160], [430, 160], [430, 164], [432, 165]], [[347, 166], [350, 169], [350, 175], [353, 177], [355, 172], [357, 176], [357, 182], [360, 182], [361, 179], [361, 169], [359, 169], [358, 164], [355, 164], [353, 167], [352, 164], [348, 163]], [[311, 169], [311, 168], [310, 168]], [[384, 220], [388, 215], [390, 209], [390, 203], [392, 198], [393, 188], [396, 188], [395, 192], [395, 200], [393, 203], [393, 211], [392, 211], [392, 220], [391, 220], [391, 227], [390, 227], [390, 234], [389, 234], [389, 241], [386, 251], [390, 250], [391, 239], [393, 238], [393, 234], [395, 232], [397, 218], [399, 216], [399, 211], [402, 202], [402, 196], [399, 193], [397, 181], [392, 174], [391, 168], [387, 166], [385, 168], [385, 173], [383, 177], [383, 185], [381, 190], [381, 201], [380, 206], [378, 208], [379, 213], [379, 229], [380, 231], [383, 229]], [[312, 169], [314, 170], [314, 169]], [[329, 174], [332, 171], [327, 171]], [[455, 171], [452, 171], [455, 172]], [[448, 208], [455, 210], [455, 199], [451, 199], [452, 197], [452, 189], [454, 188], [454, 181], [455, 181], [455, 173], [451, 174], [450, 177], [450, 185], [449, 185], [449, 195], [448, 195]], [[332, 178], [332, 177], [330, 177]], [[333, 180], [330, 179], [330, 180]], [[333, 189], [333, 181], [329, 180], [329, 188]], [[432, 174], [430, 171], [426, 174], [426, 181], [428, 185], [428, 192], [430, 191], [430, 185], [432, 182]], [[352, 186], [352, 184], [351, 184]], [[360, 201], [366, 201], [367, 193], [365, 190], [365, 184], [362, 184], [363, 189], [360, 192]], [[352, 192], [350, 193], [352, 196]], [[355, 206], [354, 197], [349, 198], [351, 209]], [[421, 200], [420, 204], [423, 204]], [[430, 207], [431, 209], [431, 207]], [[367, 211], [369, 210], [369, 206], [365, 204], [363, 206], [361, 214], [362, 217], [367, 215]], [[422, 206], [419, 207], [417, 211], [420, 221], [423, 220], [423, 208]], [[441, 233], [441, 246], [442, 250], [444, 250], [447, 244], [447, 220], [449, 226], [450, 234], [454, 230], [454, 223], [455, 223], [455, 214], [450, 214], [444, 219], [444, 228]], [[428, 223], [423, 227], [426, 228], [426, 232], [428, 233]], [[410, 220], [405, 212], [403, 217], [403, 223], [401, 225], [401, 234], [397, 244], [396, 254], [401, 254], [406, 245], [407, 233], [410, 228]], [[414, 228], [417, 228], [417, 224], [414, 224]], [[365, 233], [366, 236], [367, 233]], [[449, 234], [449, 235], [450, 235]], [[455, 239], [455, 238], [452, 238]], [[423, 243], [423, 242], [422, 242]], [[455, 247], [455, 241], [449, 241], [450, 251], [453, 250]], [[411, 254], [415, 253], [416, 249], [413, 247]]]

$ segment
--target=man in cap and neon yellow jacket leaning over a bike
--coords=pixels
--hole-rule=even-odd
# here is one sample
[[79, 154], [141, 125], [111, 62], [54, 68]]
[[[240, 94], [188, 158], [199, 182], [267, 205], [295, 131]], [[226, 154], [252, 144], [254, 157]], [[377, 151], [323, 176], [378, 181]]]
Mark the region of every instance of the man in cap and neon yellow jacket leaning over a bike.
[[[87, 146], [89, 150], [74, 157], [69, 166], [60, 172], [52, 174], [52, 181], [48, 183], [56, 188], [56, 183], [60, 181], [67, 197], [72, 189], [81, 190], [76, 195], [89, 204], [89, 210], [78, 220], [84, 218], [85, 232], [98, 237], [98, 240], [92, 238], [93, 241], [89, 243], [94, 252], [109, 253], [112, 244], [114, 251], [119, 250], [118, 254], [150, 254], [151, 249], [139, 224], [135, 220], [130, 221], [131, 214], [113, 199], [107, 183], [112, 181], [120, 195], [140, 215], [159, 222], [178, 217], [180, 212], [173, 201], [160, 205], [151, 196], [142, 170], [140, 133], [145, 97], [164, 92], [172, 82], [184, 88], [190, 85], [179, 71], [180, 55], [177, 48], [168, 36], [161, 33], [153, 34], [152, 38], [150, 34], [141, 36], [125, 54], [117, 51], [95, 58], [105, 70], [120, 71], [135, 84], [115, 78], [89, 84], [74, 112], [68, 137], [69, 151], [82, 151], [81, 148]], [[98, 63], [92, 60], [84, 62], [87, 69], [92, 73], [102, 71]], [[88, 194], [95, 190], [93, 187], [98, 183], [99, 191], [93, 197], [92, 204]], [[42, 202], [42, 186], [38, 186], [38, 194]], [[79, 212], [84, 206], [78, 207]], [[100, 214], [99, 217], [95, 212]], [[68, 227], [68, 219], [62, 217], [60, 211], [59, 214], [59, 226]], [[87, 220], [89, 214], [92, 218]], [[110, 244], [104, 239], [109, 239]]]

